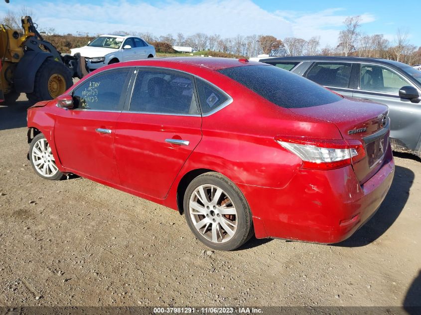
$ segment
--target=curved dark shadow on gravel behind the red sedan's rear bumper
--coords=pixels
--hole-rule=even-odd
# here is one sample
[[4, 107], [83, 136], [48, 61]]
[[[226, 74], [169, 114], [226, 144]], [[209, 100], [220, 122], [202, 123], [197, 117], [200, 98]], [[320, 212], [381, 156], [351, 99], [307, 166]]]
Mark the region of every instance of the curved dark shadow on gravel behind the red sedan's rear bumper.
[[404, 209], [415, 174], [410, 169], [396, 166], [392, 186], [377, 213], [350, 238], [333, 244], [339, 247], [360, 247], [370, 244], [385, 233]]

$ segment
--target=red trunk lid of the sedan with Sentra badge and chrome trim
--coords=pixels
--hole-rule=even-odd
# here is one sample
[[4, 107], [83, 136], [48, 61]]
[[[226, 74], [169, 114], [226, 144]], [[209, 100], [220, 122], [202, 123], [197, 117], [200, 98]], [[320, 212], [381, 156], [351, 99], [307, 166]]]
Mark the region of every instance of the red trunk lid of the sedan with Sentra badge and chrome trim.
[[370, 179], [383, 164], [390, 129], [386, 105], [345, 98], [326, 105], [289, 109], [300, 115], [332, 122], [349, 144], [363, 144], [366, 156], [353, 164], [360, 184]]

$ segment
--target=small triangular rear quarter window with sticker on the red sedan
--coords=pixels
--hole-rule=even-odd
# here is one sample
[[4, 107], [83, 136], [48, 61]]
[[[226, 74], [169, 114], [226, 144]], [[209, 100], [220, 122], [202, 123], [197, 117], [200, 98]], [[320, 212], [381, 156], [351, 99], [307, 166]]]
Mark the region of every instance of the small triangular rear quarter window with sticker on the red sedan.
[[196, 86], [202, 114], [215, 110], [229, 100], [224, 92], [203, 80], [196, 79]]

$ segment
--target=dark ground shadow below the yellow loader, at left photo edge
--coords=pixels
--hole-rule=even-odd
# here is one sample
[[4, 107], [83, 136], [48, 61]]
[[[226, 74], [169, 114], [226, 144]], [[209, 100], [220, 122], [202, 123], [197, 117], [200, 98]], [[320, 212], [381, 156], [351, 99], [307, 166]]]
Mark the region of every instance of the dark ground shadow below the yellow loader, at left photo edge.
[[26, 109], [28, 101], [5, 101], [0, 103], [0, 130], [26, 126]]

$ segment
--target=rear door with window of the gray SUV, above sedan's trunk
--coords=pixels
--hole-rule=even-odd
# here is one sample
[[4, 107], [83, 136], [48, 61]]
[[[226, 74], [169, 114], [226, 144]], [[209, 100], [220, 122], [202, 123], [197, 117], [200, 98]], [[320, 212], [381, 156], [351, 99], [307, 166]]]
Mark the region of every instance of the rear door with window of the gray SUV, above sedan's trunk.
[[329, 90], [352, 97], [350, 62], [315, 62], [304, 75]]

